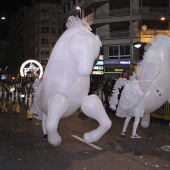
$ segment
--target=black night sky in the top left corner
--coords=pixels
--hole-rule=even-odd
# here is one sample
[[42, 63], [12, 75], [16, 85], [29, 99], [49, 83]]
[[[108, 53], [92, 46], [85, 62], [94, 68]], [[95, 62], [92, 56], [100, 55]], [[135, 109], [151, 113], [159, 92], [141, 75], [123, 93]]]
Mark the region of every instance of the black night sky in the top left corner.
[[8, 39], [8, 19], [18, 9], [23, 6], [31, 6], [32, 0], [1, 0], [0, 18], [6, 17], [6, 20], [0, 20], [0, 40]]

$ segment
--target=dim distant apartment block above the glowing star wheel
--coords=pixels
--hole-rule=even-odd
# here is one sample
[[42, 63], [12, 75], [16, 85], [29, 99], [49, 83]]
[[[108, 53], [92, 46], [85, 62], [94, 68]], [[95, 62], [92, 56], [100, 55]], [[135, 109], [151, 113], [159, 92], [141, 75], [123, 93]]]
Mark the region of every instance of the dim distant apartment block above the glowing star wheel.
[[11, 57], [21, 65], [35, 59], [45, 68], [61, 35], [58, 0], [32, 0], [31, 7], [20, 9], [9, 21]]

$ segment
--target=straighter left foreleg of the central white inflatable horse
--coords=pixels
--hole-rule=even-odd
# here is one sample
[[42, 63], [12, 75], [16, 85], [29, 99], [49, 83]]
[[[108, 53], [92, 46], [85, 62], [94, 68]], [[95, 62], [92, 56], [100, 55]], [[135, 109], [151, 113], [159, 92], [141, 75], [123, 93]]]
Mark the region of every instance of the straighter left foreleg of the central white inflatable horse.
[[69, 100], [64, 94], [56, 93], [49, 97], [47, 106], [46, 130], [48, 142], [57, 146], [61, 143], [61, 137], [57, 132], [58, 123], [69, 107]]

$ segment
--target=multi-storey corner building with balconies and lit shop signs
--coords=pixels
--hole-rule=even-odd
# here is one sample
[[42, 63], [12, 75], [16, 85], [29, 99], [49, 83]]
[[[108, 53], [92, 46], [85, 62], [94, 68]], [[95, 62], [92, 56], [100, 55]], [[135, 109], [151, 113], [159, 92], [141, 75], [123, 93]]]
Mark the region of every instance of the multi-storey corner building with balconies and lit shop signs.
[[[61, 8], [63, 31], [67, 18], [77, 15], [99, 35], [106, 78], [133, 72], [151, 38], [170, 36], [170, 0], [61, 0]], [[134, 47], [136, 42], [140, 48]]]

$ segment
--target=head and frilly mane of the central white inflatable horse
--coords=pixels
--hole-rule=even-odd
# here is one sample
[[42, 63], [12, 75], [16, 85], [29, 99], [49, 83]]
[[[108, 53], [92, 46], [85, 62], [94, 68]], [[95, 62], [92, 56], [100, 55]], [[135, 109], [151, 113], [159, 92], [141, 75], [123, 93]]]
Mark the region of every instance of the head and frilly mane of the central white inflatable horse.
[[[78, 63], [78, 72], [81, 76], [91, 74], [94, 60], [99, 55], [101, 41], [98, 36], [91, 33], [87, 22], [78, 17], [69, 17], [67, 27], [79, 27], [69, 43], [69, 54]], [[93, 47], [93, 48], [92, 48]]]

